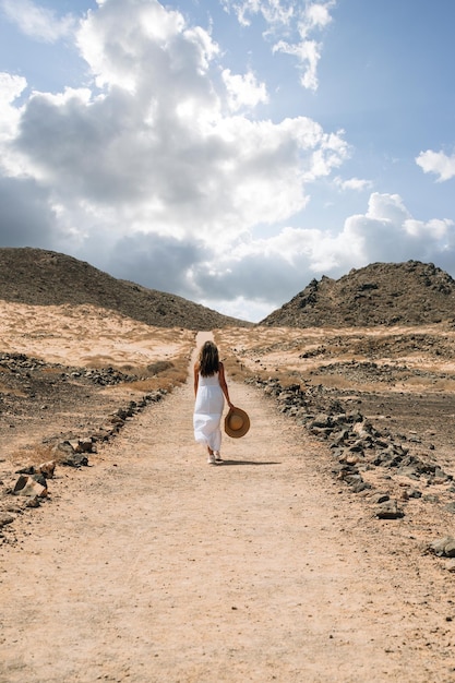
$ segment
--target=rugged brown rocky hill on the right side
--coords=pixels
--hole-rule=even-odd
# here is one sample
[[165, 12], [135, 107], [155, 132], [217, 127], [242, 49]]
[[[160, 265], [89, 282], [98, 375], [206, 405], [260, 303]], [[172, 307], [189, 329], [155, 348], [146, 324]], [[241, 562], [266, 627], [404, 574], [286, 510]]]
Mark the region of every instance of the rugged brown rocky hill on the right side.
[[455, 280], [432, 263], [372, 263], [313, 279], [260, 325], [363, 327], [455, 321]]

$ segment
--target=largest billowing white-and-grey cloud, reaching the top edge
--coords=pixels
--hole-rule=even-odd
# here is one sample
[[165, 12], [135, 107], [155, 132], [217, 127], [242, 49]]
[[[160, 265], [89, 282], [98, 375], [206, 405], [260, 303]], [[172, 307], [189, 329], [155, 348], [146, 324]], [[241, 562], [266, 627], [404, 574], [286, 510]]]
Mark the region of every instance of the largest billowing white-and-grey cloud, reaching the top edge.
[[[79, 45], [103, 91], [33, 93], [14, 149], [81, 240], [87, 225], [128, 226], [223, 250], [301, 211], [310, 183], [348, 156], [343, 132], [306, 117], [250, 120], [265, 85], [250, 72], [220, 80], [208, 34], [155, 0], [106, 0]], [[246, 111], [224, 111], [227, 100]]]

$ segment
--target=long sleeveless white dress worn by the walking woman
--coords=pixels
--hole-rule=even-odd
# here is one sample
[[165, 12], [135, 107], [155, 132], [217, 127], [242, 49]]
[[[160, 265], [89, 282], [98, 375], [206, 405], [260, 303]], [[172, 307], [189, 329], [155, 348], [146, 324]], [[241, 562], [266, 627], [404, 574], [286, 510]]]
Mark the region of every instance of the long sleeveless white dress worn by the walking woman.
[[219, 386], [218, 373], [203, 378], [199, 373], [197, 393], [194, 405], [194, 439], [197, 443], [219, 451], [221, 446], [221, 415], [225, 397]]

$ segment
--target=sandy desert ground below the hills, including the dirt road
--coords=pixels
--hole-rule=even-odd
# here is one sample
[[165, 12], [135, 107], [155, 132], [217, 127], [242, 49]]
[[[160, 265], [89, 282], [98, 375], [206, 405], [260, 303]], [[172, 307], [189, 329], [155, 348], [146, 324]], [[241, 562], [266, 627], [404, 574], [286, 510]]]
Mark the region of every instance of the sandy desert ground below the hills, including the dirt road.
[[[454, 534], [452, 329], [214, 331], [251, 429], [213, 467], [191, 423], [205, 335], [1, 305], [2, 683], [455, 681], [454, 561], [431, 550]], [[354, 412], [363, 453], [309, 418]], [[86, 466], [59, 460], [95, 434]], [[36, 507], [12, 494], [51, 457]]]

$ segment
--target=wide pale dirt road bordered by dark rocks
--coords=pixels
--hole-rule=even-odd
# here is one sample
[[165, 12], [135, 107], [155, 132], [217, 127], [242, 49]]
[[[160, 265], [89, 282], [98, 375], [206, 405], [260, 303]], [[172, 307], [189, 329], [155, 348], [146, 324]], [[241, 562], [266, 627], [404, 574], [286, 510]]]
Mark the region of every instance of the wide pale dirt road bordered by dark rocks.
[[[1, 552], [2, 683], [455, 681], [455, 591], [255, 390], [221, 466], [192, 385], [50, 482]], [[447, 579], [448, 576], [448, 579]]]

